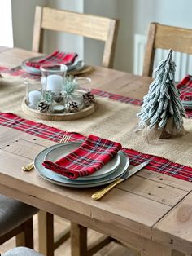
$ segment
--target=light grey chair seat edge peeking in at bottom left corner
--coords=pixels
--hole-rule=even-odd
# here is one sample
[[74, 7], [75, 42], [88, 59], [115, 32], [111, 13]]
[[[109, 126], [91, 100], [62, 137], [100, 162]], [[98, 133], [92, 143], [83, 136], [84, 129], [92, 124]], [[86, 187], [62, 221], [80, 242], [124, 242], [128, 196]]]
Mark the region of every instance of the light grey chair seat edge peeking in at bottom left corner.
[[26, 247], [16, 247], [7, 251], [7, 253], [2, 254], [2, 256], [43, 256], [42, 254], [37, 253], [33, 249]]

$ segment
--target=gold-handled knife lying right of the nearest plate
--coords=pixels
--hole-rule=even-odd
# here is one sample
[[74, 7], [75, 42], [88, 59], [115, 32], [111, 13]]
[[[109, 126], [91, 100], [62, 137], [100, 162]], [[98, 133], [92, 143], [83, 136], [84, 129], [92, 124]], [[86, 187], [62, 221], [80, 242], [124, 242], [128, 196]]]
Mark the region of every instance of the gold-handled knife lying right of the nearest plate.
[[117, 184], [123, 182], [125, 179], [128, 179], [131, 177], [133, 174], [137, 173], [138, 170], [141, 170], [143, 167], [148, 165], [149, 161], [145, 161], [142, 164], [133, 167], [131, 170], [126, 170], [125, 173], [118, 179], [116, 179], [113, 183], [110, 183], [107, 187], [99, 190], [98, 192], [95, 192], [91, 198], [94, 200], [99, 200], [101, 199], [107, 192], [111, 190], [111, 188], [116, 187]]

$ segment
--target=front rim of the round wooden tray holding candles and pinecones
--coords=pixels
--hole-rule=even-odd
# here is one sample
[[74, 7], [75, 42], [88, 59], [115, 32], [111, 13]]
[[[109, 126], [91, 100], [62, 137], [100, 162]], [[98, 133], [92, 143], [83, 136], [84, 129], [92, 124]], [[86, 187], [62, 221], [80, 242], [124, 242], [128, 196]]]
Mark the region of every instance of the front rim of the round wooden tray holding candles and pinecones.
[[25, 98], [23, 99], [21, 103], [22, 110], [24, 113], [26, 113], [28, 116], [35, 117], [42, 120], [49, 120], [49, 121], [70, 121], [70, 120], [76, 120], [83, 117], [88, 117], [92, 113], [94, 113], [96, 104], [92, 104], [87, 108], [82, 109], [79, 112], [76, 113], [40, 113], [36, 109], [29, 108], [26, 104]]

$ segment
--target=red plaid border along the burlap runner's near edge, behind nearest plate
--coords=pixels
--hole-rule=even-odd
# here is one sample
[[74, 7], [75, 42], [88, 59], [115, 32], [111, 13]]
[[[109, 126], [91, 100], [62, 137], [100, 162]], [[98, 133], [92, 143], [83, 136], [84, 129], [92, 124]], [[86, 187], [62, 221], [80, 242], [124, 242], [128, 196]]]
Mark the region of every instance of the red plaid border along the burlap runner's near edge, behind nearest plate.
[[[0, 113], [0, 125], [11, 127], [17, 130], [22, 130], [28, 134], [35, 135], [44, 139], [50, 139], [58, 142], [62, 139], [63, 135], [71, 135], [70, 141], [78, 141], [79, 139], [85, 139], [85, 136], [75, 133], [59, 130], [54, 127], [46, 126], [34, 121], [28, 121], [24, 118], [20, 118], [12, 113]], [[186, 181], [192, 181], [192, 168], [183, 166], [162, 157], [155, 157], [149, 154], [143, 154], [133, 149], [122, 149], [129, 157], [132, 165], [137, 166], [143, 161], [150, 161], [149, 165], [145, 168], [153, 170], [162, 174], [167, 174], [178, 179], [184, 179]]]

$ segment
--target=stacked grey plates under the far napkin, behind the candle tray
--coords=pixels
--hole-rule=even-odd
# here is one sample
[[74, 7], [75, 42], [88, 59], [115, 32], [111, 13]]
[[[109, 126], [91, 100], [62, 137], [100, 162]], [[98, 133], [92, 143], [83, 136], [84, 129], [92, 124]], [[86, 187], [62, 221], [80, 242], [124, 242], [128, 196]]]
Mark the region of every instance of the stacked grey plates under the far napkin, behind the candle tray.
[[[34, 57], [34, 58], [24, 60], [21, 64], [21, 68], [23, 68], [27, 73], [31, 73], [31, 74], [35, 74], [35, 75], [41, 75], [41, 71], [40, 71], [39, 68], [30, 67], [26, 63], [28, 63], [28, 62], [37, 62], [37, 61], [39, 61], [41, 59], [44, 59], [44, 58], [45, 58], [45, 56], [38, 56], [38, 57]], [[85, 63], [83, 62], [83, 60], [76, 59], [73, 64], [68, 65], [68, 72], [79, 71], [84, 67], [85, 67]]]

